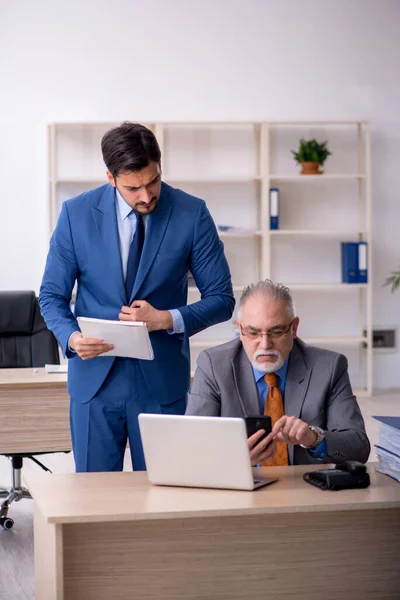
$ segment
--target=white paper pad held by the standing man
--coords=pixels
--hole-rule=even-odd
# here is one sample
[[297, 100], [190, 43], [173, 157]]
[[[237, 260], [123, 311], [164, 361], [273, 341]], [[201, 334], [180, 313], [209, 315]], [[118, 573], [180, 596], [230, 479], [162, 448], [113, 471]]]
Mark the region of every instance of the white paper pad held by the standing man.
[[110, 321], [90, 317], [78, 317], [77, 321], [84, 337], [100, 338], [114, 346], [112, 350], [100, 354], [100, 357], [154, 359], [149, 332], [143, 321]]

